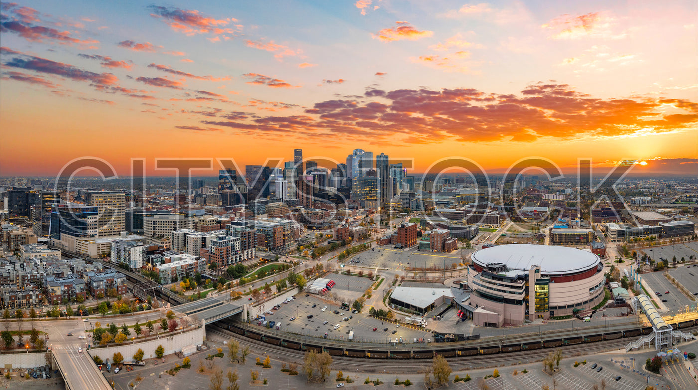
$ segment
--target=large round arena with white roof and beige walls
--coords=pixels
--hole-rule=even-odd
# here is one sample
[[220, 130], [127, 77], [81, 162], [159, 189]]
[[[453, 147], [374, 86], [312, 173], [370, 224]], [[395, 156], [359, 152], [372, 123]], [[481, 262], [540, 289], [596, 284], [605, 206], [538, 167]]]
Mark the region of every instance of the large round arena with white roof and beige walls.
[[604, 282], [603, 264], [589, 251], [500, 245], [473, 253], [468, 266], [473, 292], [459, 306], [477, 326], [520, 325], [593, 308], [604, 298]]

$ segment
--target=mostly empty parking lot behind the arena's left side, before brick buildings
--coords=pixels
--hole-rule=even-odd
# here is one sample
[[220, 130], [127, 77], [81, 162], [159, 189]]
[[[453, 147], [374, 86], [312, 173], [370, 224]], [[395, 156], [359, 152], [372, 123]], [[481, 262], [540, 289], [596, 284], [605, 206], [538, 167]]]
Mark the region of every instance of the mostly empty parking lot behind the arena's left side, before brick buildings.
[[345, 267], [358, 265], [369, 268], [404, 269], [406, 267], [443, 269], [444, 266], [459, 264], [463, 253], [472, 253], [474, 250], [459, 249], [453, 253], [428, 253], [412, 250], [395, 249], [391, 246], [378, 246], [375, 250], [366, 250], [351, 257], [345, 262]]

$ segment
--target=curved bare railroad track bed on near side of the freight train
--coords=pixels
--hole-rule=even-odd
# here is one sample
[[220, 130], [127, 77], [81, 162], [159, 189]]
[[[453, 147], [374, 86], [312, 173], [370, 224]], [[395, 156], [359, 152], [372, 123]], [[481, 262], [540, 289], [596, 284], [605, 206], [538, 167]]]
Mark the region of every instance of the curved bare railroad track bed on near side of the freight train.
[[[255, 353], [269, 354], [270, 357], [276, 356], [276, 359], [283, 361], [295, 361], [302, 364], [305, 352], [299, 350], [290, 350], [285, 347], [279, 347], [268, 343], [260, 343], [258, 340], [252, 340], [237, 333], [228, 331], [218, 327], [207, 327], [207, 333], [214, 333], [222, 336], [223, 340], [235, 338], [242, 346], [248, 346]], [[598, 341], [592, 344], [569, 345], [562, 348], [563, 355], [570, 357], [574, 354], [590, 354], [594, 352], [604, 352], [608, 350], [616, 350], [628, 344], [626, 339]], [[484, 368], [493, 366], [508, 366], [516, 363], [526, 363], [530, 361], [539, 361], [547, 357], [550, 352], [556, 348], [547, 348], [540, 350], [529, 350], [519, 352], [508, 352], [498, 354], [473, 355], [473, 356], [456, 356], [448, 357], [448, 362], [454, 370], [466, 370], [470, 368]], [[381, 370], [376, 367], [389, 367], [387, 371], [391, 373], [414, 373], [415, 370], [424, 370], [431, 364], [431, 359], [371, 359], [371, 358], [352, 358], [333, 356], [332, 361], [342, 367], [344, 371], [358, 370], [362, 373], [376, 373]]]

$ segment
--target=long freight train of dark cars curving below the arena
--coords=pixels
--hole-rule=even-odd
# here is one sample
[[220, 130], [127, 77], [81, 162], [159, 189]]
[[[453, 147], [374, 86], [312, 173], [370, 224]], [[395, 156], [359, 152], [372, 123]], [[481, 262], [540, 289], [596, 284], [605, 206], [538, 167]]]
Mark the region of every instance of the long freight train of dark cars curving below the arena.
[[[473, 355], [487, 355], [487, 354], [498, 354], [507, 352], [519, 352], [528, 350], [540, 350], [541, 348], [556, 348], [563, 347], [565, 345], [574, 345], [582, 343], [595, 343], [601, 340], [616, 340], [618, 338], [636, 338], [641, 335], [647, 335], [652, 333], [652, 327], [641, 327], [634, 329], [626, 329], [624, 331], [610, 331], [606, 333], [593, 333], [587, 336], [570, 336], [566, 338], [551, 338], [548, 340], [538, 340], [538, 341], [525, 341], [521, 343], [510, 343], [503, 345], [482, 345], [480, 347], [474, 346], [472, 344], [468, 345], [431, 345], [431, 348], [416, 348], [410, 349], [408, 347], [376, 347], [363, 349], [357, 347], [340, 347], [337, 345], [322, 345], [320, 343], [306, 343], [299, 342], [299, 340], [292, 340], [289, 337], [288, 340], [283, 338], [284, 336], [276, 333], [274, 336], [262, 333], [261, 329], [259, 332], [245, 329], [240, 327], [235, 323], [225, 323], [217, 322], [218, 327], [228, 329], [233, 333], [237, 333], [248, 338], [253, 338], [254, 340], [260, 340], [264, 343], [269, 343], [273, 345], [279, 345], [281, 347], [287, 347], [292, 350], [314, 350], [315, 352], [326, 351], [332, 356], [346, 356], [346, 357], [362, 357], [362, 358], [372, 358], [372, 359], [431, 359], [435, 354], [443, 355], [443, 357], [456, 357], [456, 356], [473, 356]], [[698, 320], [688, 320], [683, 322], [678, 322], [671, 324], [674, 329], [685, 329], [698, 326]], [[288, 335], [291, 336], [291, 335]]]

